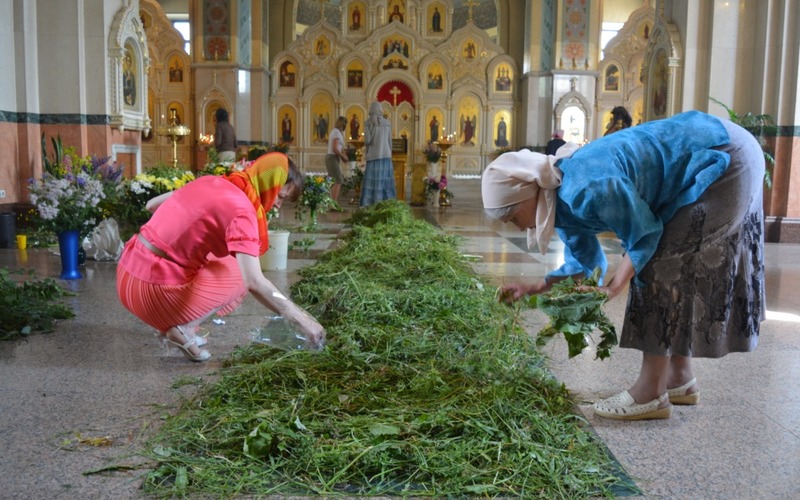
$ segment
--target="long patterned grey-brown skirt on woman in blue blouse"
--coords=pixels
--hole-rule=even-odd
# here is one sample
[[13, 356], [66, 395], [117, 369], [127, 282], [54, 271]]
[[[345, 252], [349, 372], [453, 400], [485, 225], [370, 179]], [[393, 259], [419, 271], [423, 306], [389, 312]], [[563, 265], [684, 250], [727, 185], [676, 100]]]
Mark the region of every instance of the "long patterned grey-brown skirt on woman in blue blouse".
[[723, 120], [725, 174], [678, 210], [641, 278], [631, 283], [620, 347], [719, 358], [755, 349], [765, 317], [764, 156], [749, 132]]

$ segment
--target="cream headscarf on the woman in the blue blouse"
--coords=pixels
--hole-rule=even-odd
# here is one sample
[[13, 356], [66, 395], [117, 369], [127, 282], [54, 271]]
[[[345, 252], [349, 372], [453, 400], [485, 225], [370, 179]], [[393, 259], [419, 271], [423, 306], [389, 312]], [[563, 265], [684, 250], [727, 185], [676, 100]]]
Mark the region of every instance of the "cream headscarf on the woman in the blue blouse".
[[534, 244], [544, 255], [556, 222], [556, 189], [561, 185], [561, 170], [556, 162], [569, 158], [578, 145], [568, 142], [553, 155], [527, 149], [503, 153], [490, 163], [481, 176], [484, 208], [502, 208], [536, 199], [536, 227], [528, 229], [528, 248]]

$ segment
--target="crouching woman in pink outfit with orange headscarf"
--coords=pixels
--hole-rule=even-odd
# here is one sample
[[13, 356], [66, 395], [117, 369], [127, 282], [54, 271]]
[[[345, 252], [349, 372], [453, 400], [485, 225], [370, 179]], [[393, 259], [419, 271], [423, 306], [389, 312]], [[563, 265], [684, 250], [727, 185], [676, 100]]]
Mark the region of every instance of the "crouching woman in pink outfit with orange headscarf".
[[264, 277], [258, 260], [269, 248], [267, 212], [302, 188], [294, 162], [268, 153], [241, 172], [204, 176], [153, 198], [153, 216], [117, 267], [120, 301], [192, 361], [211, 356], [200, 349], [200, 324], [235, 310], [248, 291], [311, 344], [321, 343], [323, 327]]

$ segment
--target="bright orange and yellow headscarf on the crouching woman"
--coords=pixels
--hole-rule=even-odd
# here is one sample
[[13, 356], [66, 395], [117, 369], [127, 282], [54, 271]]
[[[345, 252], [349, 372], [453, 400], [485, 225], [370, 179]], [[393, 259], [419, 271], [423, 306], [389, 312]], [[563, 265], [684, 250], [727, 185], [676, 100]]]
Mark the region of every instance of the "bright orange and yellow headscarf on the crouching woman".
[[275, 204], [278, 193], [288, 178], [289, 158], [283, 153], [267, 153], [246, 169], [233, 172], [226, 177], [244, 191], [256, 209], [258, 239], [261, 242], [259, 254], [264, 254], [269, 248], [267, 212]]

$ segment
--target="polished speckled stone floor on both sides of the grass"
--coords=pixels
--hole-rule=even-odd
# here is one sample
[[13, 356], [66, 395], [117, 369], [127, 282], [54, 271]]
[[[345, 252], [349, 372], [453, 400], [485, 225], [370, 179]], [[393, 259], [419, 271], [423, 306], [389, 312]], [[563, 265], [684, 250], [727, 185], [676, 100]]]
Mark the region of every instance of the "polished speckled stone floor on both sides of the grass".
[[[528, 252], [524, 233], [482, 215], [479, 180], [451, 179], [450, 188], [452, 207], [415, 213], [462, 236], [464, 253], [476, 256], [475, 270], [489, 283], [538, 279], [559, 264], [557, 242], [547, 255]], [[347, 216], [322, 215], [309, 251], [291, 251], [288, 268], [267, 277], [287, 289], [298, 268], [334, 243]], [[613, 237], [603, 243], [613, 271], [619, 244]], [[597, 361], [591, 348], [568, 359], [558, 339], [544, 348], [553, 374], [579, 401], [576, 411], [645, 498], [800, 498], [800, 245], [767, 244], [766, 255], [768, 319], [758, 348], [696, 360], [700, 404], [676, 406], [669, 420], [618, 422], [592, 413], [591, 401], [633, 382], [637, 351], [617, 349]], [[60, 264], [46, 249], [0, 249], [0, 267], [57, 277]], [[1, 498], [143, 496], [150, 464], [137, 454], [142, 440], [191, 394], [193, 381], [212, 378], [264, 321], [264, 309], [248, 298], [223, 323], [205, 327], [212, 359], [188, 362], [161, 351], [150, 329], [117, 302], [114, 270], [113, 262], [89, 261], [83, 279], [63, 282], [76, 292], [69, 299], [75, 318], [51, 334], [0, 342]], [[621, 325], [624, 299], [606, 312]], [[544, 322], [529, 316], [532, 332]]]

